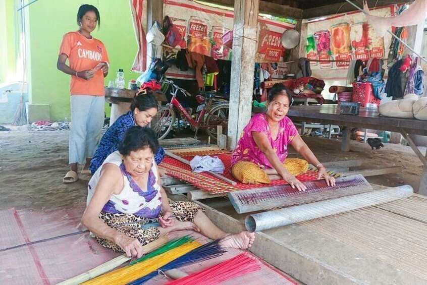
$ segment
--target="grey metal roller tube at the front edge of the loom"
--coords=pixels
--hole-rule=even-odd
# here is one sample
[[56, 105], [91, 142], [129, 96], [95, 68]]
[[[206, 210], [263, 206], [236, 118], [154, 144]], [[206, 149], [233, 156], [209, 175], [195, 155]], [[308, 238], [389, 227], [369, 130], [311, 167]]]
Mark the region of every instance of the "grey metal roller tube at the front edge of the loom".
[[259, 232], [283, 225], [319, 217], [339, 214], [363, 207], [373, 206], [409, 197], [413, 189], [403, 185], [384, 190], [345, 196], [325, 201], [283, 208], [246, 216], [245, 226], [249, 232]]

